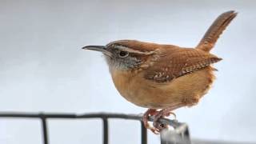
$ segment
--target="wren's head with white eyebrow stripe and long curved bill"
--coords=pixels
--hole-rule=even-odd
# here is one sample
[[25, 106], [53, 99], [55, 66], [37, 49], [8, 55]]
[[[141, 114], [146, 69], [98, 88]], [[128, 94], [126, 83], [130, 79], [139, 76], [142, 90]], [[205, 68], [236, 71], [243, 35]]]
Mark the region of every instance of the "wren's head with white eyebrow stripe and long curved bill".
[[135, 40], [119, 40], [106, 46], [84, 46], [84, 50], [96, 50], [105, 55], [110, 69], [134, 70], [155, 54], [158, 45]]

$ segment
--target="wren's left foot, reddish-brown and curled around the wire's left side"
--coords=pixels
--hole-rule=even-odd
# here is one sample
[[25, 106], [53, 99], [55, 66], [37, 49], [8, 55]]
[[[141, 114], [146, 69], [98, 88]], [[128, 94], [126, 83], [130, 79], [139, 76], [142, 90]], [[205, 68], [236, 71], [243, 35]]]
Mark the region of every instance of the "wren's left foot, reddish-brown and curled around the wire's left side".
[[157, 130], [153, 126], [150, 126], [149, 117], [154, 116], [157, 113], [158, 113], [158, 111], [155, 110], [155, 109], [148, 109], [143, 114], [143, 118], [142, 118], [142, 121], [143, 121], [144, 126], [146, 127], [146, 129], [150, 129], [154, 134], [158, 134], [158, 132], [156, 132]]

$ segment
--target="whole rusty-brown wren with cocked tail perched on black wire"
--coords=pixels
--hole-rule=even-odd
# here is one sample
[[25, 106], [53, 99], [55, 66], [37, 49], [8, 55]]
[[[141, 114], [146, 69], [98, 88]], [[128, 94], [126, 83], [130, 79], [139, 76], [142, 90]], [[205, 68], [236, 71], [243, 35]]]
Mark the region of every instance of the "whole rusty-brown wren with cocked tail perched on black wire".
[[[210, 50], [236, 15], [234, 11], [221, 14], [195, 48], [118, 40], [83, 49], [105, 55], [119, 93], [127, 101], [149, 108], [143, 122], [156, 133], [162, 130], [158, 118], [182, 106], [194, 106], [210, 89], [215, 70], [211, 65], [222, 60]], [[148, 123], [150, 115], [154, 116], [154, 127]]]

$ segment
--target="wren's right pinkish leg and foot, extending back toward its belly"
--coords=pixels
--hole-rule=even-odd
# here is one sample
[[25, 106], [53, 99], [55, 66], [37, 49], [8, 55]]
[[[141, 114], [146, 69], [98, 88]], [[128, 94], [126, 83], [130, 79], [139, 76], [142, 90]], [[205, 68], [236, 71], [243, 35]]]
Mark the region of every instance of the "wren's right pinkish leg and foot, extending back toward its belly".
[[158, 122], [159, 118], [168, 117], [168, 116], [170, 116], [170, 114], [173, 114], [174, 118], [176, 119], [176, 114], [174, 114], [171, 111], [178, 109], [181, 106], [184, 106], [184, 104], [177, 104], [174, 106], [169, 106], [166, 109], [162, 109], [162, 110], [158, 111], [158, 114], [155, 114], [155, 116], [154, 116], [154, 122], [153, 122], [154, 129], [156, 129], [158, 132], [160, 132], [160, 130], [166, 128], [167, 126]]

